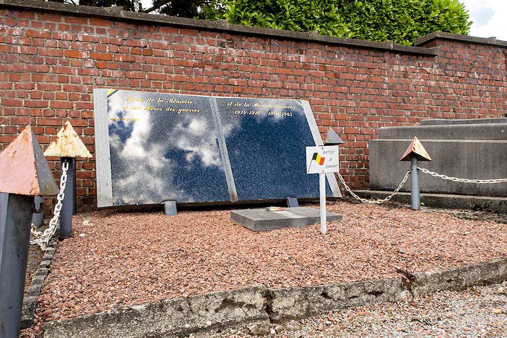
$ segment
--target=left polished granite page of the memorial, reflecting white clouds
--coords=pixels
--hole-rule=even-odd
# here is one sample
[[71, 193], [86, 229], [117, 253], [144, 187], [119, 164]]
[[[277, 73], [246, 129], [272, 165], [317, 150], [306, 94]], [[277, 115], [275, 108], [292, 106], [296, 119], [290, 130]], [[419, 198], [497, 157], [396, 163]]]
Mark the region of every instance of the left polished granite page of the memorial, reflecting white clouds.
[[107, 93], [112, 204], [229, 201], [208, 97]]

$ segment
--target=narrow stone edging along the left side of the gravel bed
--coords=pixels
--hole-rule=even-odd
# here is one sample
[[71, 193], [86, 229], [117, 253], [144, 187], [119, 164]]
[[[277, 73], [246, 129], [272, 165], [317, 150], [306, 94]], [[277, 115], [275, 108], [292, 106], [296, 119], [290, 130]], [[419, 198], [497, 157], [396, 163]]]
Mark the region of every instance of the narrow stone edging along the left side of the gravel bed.
[[21, 312], [21, 329], [28, 328], [33, 323], [33, 314], [37, 308], [38, 298], [42, 291], [42, 284], [46, 280], [46, 277], [48, 277], [49, 266], [53, 260], [57, 244], [58, 239], [53, 236], [53, 238], [49, 240], [48, 248], [42, 257], [41, 264], [33, 274], [30, 286], [28, 286], [26, 290], [26, 294], [23, 298], [23, 310]]

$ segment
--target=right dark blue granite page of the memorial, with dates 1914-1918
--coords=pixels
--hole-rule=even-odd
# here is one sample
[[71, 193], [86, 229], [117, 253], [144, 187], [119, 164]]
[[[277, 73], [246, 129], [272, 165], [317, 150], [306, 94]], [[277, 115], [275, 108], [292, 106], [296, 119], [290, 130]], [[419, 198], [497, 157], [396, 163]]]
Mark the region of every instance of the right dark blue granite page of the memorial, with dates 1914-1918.
[[319, 196], [318, 175], [306, 173], [315, 141], [300, 101], [214, 99], [239, 200]]

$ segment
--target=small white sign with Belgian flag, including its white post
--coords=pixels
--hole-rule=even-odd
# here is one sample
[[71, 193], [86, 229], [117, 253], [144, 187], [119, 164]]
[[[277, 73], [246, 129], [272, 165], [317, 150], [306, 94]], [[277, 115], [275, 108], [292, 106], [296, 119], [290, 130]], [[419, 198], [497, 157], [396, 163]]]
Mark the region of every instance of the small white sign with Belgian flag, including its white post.
[[320, 233], [327, 232], [325, 211], [325, 173], [338, 171], [338, 146], [307, 146], [306, 173], [319, 174]]

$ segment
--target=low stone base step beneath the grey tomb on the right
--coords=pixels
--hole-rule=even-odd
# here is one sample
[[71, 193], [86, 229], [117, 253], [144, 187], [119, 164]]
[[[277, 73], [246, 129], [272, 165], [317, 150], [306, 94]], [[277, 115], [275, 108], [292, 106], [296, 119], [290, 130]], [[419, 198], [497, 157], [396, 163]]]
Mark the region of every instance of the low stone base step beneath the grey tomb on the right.
[[[392, 192], [378, 190], [355, 190], [354, 193], [367, 199], [384, 199], [392, 194]], [[349, 196], [348, 193], [346, 195]], [[410, 204], [410, 193], [399, 192], [391, 201]], [[421, 193], [421, 202], [424, 206], [431, 208], [480, 210], [507, 214], [507, 197]]]

